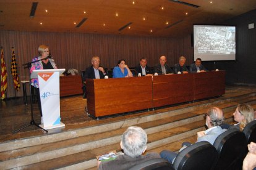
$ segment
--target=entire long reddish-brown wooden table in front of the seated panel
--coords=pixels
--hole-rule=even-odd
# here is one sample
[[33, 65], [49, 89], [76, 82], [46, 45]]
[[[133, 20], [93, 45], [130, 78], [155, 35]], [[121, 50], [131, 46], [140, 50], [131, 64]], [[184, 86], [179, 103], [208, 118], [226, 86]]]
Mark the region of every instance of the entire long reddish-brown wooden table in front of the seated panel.
[[225, 71], [87, 79], [88, 113], [95, 117], [162, 107], [225, 93]]

